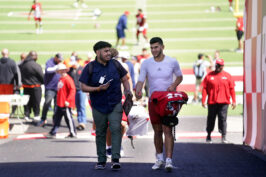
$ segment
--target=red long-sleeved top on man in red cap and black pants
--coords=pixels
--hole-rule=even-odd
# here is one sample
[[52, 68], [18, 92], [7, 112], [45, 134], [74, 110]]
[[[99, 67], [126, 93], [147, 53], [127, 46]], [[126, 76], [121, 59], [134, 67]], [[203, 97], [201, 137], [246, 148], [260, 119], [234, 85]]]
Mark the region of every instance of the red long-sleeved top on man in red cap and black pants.
[[236, 103], [234, 87], [235, 82], [229, 73], [212, 71], [203, 80], [202, 103], [205, 103], [207, 95], [208, 104], [230, 104], [230, 96]]

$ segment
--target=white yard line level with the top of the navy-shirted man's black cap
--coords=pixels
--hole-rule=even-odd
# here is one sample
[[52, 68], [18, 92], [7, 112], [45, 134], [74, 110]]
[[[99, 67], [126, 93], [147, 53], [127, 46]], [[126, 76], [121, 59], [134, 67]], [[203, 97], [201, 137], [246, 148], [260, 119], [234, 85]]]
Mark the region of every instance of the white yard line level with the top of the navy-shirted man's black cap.
[[[115, 42], [115, 39], [105, 39], [109, 42]], [[166, 43], [170, 42], [191, 42], [191, 41], [234, 41], [235, 37], [207, 37], [207, 38], [164, 38]], [[1, 44], [51, 44], [51, 43], [79, 43], [79, 44], [89, 44], [95, 43], [99, 40], [0, 40]], [[135, 39], [129, 39], [128, 42], [135, 42]]]

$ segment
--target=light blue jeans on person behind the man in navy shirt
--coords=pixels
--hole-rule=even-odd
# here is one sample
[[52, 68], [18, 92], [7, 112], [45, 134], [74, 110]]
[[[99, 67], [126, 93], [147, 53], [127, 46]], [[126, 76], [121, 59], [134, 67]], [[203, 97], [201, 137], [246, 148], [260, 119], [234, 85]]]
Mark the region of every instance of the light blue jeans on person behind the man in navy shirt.
[[76, 92], [76, 107], [78, 113], [78, 123], [87, 123], [87, 115], [86, 115], [86, 94], [83, 93], [81, 90], [77, 90]]

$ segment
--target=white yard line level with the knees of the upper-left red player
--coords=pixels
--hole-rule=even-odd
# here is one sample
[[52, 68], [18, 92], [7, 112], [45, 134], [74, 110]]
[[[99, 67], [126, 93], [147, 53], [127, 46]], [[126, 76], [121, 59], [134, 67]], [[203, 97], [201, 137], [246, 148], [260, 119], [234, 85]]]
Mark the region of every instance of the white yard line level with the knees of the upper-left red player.
[[[148, 23], [194, 23], [194, 22], [228, 22], [228, 21], [235, 21], [235, 18], [203, 18], [203, 19], [163, 19], [163, 20], [158, 20], [154, 19], [151, 20], [149, 19]], [[114, 24], [117, 21], [116, 20], [97, 20], [99, 24]], [[129, 23], [136, 23], [136, 20], [129, 20]], [[44, 24], [89, 24], [91, 21], [76, 21], [76, 20], [68, 20], [68, 21], [43, 21]], [[25, 25], [25, 24], [34, 24], [34, 21], [0, 21], [0, 24], [3, 25]]]

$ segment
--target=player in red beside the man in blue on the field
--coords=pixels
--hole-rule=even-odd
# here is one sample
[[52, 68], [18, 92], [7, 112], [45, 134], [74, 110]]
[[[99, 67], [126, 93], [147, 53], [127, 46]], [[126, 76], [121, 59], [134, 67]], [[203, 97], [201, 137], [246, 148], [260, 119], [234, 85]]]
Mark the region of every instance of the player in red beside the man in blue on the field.
[[146, 23], [146, 17], [142, 13], [142, 9], [138, 9], [138, 14], [136, 15], [137, 18], [137, 43], [139, 43], [139, 34], [142, 33], [143, 37], [145, 38], [146, 42], [148, 42], [147, 37], [147, 23]]

